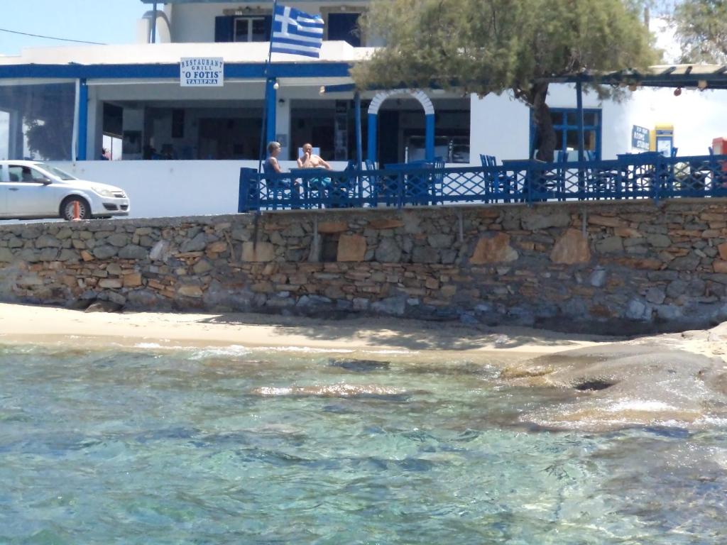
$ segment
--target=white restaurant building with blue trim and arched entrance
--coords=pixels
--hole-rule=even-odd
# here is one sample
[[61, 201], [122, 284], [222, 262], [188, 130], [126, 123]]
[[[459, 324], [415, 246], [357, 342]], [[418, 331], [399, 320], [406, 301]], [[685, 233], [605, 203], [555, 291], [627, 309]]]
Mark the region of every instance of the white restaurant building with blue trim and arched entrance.
[[[81, 177], [120, 185], [134, 216], [236, 211], [239, 168], [257, 166], [264, 118], [274, 119], [265, 140], [283, 144], [284, 160], [294, 161], [298, 148], [312, 142], [344, 166], [356, 158], [348, 69], [379, 45], [356, 31], [368, 1], [281, 3], [324, 17], [320, 59], [274, 54], [266, 70], [272, 0], [160, 1], [157, 43], [147, 43], [150, 12], [139, 22], [139, 44], [33, 48], [0, 57], [0, 158], [57, 161]], [[182, 86], [185, 58], [222, 59], [222, 86]], [[680, 155], [706, 154], [713, 137], [727, 135], [727, 92], [696, 90], [696, 81], [678, 97], [673, 89], [639, 89], [617, 103], [585, 94], [586, 149], [614, 158], [632, 150], [634, 126], [651, 132], [671, 126]], [[345, 90], [321, 94], [321, 86]], [[376, 94], [361, 94], [364, 114], [375, 109]], [[561, 149], [577, 148], [574, 86], [553, 84], [548, 103]], [[423, 158], [422, 104], [433, 121], [433, 154], [447, 163], [478, 165], [481, 153], [498, 159], [532, 153], [534, 129], [521, 102], [507, 94], [479, 99], [427, 90], [381, 102], [374, 150], [363, 116], [364, 156], [380, 163]], [[119, 161], [101, 161], [103, 147]]]

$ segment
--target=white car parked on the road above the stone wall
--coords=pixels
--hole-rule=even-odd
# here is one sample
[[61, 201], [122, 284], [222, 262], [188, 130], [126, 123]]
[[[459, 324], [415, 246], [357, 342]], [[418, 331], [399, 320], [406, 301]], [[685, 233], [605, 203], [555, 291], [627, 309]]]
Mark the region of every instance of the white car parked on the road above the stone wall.
[[38, 161], [0, 161], [1, 219], [80, 219], [129, 215], [129, 198], [113, 185], [77, 179]]

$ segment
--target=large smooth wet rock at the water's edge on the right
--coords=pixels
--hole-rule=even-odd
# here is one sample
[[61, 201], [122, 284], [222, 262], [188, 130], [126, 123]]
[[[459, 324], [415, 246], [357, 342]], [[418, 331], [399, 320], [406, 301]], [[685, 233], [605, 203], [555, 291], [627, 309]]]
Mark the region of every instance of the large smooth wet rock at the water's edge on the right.
[[550, 387], [555, 403], [518, 416], [555, 429], [688, 426], [727, 416], [723, 360], [670, 350], [668, 344], [616, 343], [560, 352], [506, 366], [513, 386]]

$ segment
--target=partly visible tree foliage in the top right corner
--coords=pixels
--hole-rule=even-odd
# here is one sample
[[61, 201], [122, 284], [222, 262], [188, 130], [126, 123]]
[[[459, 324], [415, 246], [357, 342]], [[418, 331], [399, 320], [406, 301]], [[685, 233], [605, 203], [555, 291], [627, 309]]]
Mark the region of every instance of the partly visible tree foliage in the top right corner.
[[673, 21], [682, 62], [727, 63], [726, 0], [683, 0]]

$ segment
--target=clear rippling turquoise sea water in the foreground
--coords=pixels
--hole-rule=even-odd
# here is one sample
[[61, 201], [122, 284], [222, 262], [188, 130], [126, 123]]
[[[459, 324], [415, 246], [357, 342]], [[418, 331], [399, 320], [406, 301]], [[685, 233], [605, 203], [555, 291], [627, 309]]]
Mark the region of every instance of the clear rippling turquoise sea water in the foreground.
[[0, 543], [725, 540], [717, 424], [548, 431], [494, 367], [331, 357], [0, 345]]

